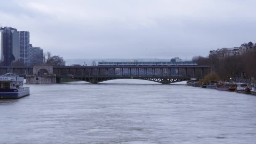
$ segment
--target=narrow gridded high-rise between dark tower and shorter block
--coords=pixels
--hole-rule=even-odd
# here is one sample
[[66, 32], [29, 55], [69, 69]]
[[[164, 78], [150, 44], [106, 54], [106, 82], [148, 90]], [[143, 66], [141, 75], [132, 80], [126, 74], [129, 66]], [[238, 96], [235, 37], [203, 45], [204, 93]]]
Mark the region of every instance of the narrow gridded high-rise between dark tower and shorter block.
[[24, 62], [25, 65], [30, 64], [30, 53], [29, 53], [29, 32], [19, 31], [19, 60]]

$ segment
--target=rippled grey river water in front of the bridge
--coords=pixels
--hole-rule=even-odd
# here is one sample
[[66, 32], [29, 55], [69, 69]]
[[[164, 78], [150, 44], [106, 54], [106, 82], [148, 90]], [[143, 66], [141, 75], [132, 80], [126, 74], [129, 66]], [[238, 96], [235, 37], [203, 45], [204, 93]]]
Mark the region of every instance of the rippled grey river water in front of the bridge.
[[256, 143], [252, 95], [140, 80], [27, 86], [0, 100], [1, 144]]

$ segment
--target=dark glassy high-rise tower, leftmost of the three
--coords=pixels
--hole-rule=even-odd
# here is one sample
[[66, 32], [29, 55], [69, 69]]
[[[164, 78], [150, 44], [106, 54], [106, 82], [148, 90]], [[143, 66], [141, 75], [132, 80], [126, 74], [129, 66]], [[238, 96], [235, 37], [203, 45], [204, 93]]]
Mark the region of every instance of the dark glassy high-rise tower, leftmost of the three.
[[12, 27], [0, 27], [0, 60], [4, 66], [19, 60], [19, 33]]

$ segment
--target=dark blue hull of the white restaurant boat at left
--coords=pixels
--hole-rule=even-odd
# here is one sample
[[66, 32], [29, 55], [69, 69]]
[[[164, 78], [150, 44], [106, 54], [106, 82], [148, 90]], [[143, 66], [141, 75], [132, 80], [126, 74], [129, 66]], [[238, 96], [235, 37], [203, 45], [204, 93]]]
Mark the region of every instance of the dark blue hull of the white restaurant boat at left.
[[29, 89], [0, 89], [0, 99], [19, 99], [29, 95]]

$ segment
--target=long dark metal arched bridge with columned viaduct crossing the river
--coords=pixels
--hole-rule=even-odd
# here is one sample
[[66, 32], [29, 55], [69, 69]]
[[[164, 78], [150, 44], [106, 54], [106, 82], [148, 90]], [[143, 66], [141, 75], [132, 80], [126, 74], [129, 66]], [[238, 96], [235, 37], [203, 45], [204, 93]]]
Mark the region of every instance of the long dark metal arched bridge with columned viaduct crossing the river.
[[[0, 74], [6, 73], [8, 69], [10, 67], [0, 67]], [[192, 78], [200, 79], [211, 72], [209, 66], [35, 66], [11, 69], [14, 74], [24, 77], [52, 74], [56, 76], [57, 83], [60, 83], [61, 78], [72, 77], [89, 83], [115, 79], [140, 79], [170, 84]]]

